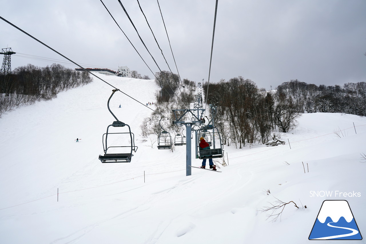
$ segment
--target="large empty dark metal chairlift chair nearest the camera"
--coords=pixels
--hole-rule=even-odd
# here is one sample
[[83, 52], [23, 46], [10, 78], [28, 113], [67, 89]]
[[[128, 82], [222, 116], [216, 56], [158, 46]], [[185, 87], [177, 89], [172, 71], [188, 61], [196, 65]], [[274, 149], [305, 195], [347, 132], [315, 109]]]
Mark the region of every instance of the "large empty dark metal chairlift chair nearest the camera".
[[[119, 121], [109, 108], [109, 101], [111, 100], [111, 97], [116, 91], [117, 90], [113, 90], [113, 93], [109, 97], [107, 103], [108, 110], [109, 112], [111, 112], [116, 121], [114, 121], [112, 125], [109, 125], [107, 127], [107, 133], [103, 134], [102, 141], [103, 141], [104, 155], [99, 155], [98, 158], [102, 163], [129, 163], [131, 162], [131, 158], [133, 156], [132, 151], [136, 152], [138, 148], [137, 146], [135, 146], [135, 136], [134, 133], [131, 132], [131, 127], [123, 123], [122, 121]], [[124, 127], [123, 131], [125, 132], [112, 133], [109, 131], [111, 126], [118, 128], [117, 129], [118, 131], [122, 131], [120, 129], [121, 127]], [[109, 145], [110, 143], [108, 141], [108, 138], [110, 140], [113, 140], [112, 145]], [[127, 142], [123, 144], [124, 140]], [[119, 144], [117, 145], [114, 144], [116, 141], [118, 141]]]

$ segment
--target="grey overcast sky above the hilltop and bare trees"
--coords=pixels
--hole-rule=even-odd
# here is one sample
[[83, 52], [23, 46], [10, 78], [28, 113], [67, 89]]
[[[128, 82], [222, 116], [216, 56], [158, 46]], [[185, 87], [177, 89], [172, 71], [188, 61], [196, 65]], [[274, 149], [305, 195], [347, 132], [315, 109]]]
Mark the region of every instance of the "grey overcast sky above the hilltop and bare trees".
[[[128, 66], [154, 78], [100, 0], [1, 2], [1, 17], [83, 67], [116, 71]], [[118, 0], [103, 2], [150, 69], [158, 72]], [[160, 69], [169, 70], [137, 0], [121, 2]], [[139, 2], [172, 72], [177, 73], [157, 1]], [[215, 3], [159, 0], [182, 80], [208, 80]], [[0, 31], [0, 48], [16, 52], [11, 56], [12, 70], [28, 63], [45, 67], [55, 62], [38, 57], [65, 62], [1, 19]], [[365, 52], [365, 0], [219, 0], [210, 82], [239, 75], [266, 89], [294, 79], [316, 85], [366, 82]]]

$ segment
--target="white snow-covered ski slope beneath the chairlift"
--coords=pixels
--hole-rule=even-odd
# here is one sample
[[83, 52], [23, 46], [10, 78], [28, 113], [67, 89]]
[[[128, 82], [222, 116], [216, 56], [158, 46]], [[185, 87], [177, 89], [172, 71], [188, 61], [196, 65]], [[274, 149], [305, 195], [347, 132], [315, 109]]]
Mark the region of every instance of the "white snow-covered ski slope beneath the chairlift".
[[[154, 81], [100, 77], [142, 103], [160, 89]], [[225, 146], [222, 173], [193, 168], [186, 176], [185, 147], [141, 143], [139, 125], [152, 111], [120, 92], [111, 109], [139, 148], [131, 163], [98, 160], [115, 119], [107, 109], [113, 88], [94, 80], [0, 119], [0, 243], [308, 243], [322, 202], [332, 199], [347, 200], [366, 233], [366, 118], [304, 114], [282, 134], [285, 145]], [[333, 133], [339, 129], [345, 136]], [[193, 155], [192, 164], [201, 160]], [[270, 222], [259, 210], [276, 198], [299, 209], [287, 204]]]

